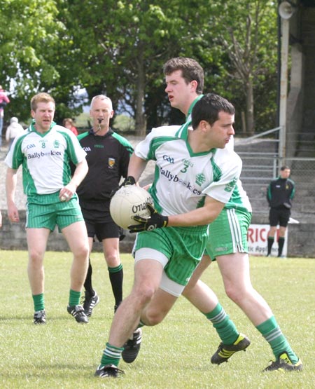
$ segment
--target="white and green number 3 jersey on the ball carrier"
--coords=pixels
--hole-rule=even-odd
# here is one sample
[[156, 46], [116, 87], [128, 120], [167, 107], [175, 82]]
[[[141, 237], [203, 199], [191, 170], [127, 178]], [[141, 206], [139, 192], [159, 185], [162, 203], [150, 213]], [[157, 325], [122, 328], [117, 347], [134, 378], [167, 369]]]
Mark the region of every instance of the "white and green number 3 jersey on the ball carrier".
[[153, 128], [135, 153], [155, 161], [150, 192], [158, 212], [182, 214], [204, 205], [210, 196], [226, 207], [251, 211], [241, 188], [241, 158], [230, 149], [194, 153], [188, 144], [188, 125]]

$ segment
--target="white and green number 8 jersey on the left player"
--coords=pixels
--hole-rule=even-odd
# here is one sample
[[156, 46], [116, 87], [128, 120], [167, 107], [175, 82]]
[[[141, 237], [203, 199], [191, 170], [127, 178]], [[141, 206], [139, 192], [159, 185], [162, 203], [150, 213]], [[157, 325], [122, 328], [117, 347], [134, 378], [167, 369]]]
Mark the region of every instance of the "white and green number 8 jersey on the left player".
[[27, 196], [55, 193], [69, 184], [71, 169], [85, 159], [86, 153], [75, 135], [61, 125], [52, 123], [42, 134], [30, 125], [15, 138], [6, 156], [9, 168], [23, 168], [23, 188]]

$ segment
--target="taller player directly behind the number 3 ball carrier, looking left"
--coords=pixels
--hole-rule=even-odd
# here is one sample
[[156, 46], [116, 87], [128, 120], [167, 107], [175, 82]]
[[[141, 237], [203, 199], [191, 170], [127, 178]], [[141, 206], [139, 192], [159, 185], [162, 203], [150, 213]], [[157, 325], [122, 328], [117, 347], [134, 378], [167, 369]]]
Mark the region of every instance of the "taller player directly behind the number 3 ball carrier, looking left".
[[[190, 58], [172, 58], [165, 64], [165, 81], [167, 82], [165, 91], [169, 96], [169, 102], [172, 107], [186, 114], [187, 121], [193, 110], [193, 104], [200, 98], [195, 85], [196, 80], [199, 79], [200, 65]], [[241, 207], [238, 196], [243, 199]], [[244, 204], [246, 204], [245, 207]], [[235, 352], [244, 350], [249, 345], [249, 340], [242, 334], [235, 337], [233, 341], [233, 336], [237, 333], [232, 330], [231, 324], [223, 326], [226, 322], [226, 314], [218, 303], [216, 295], [200, 280], [204, 270], [211, 264], [211, 259], [216, 260], [226, 293], [244, 311], [272, 348], [275, 362], [272, 362], [265, 370], [300, 370], [302, 362], [290, 348], [267, 302], [251, 285], [247, 247], [247, 231], [251, 222], [250, 211], [251, 207], [246, 193], [241, 189], [238, 191], [236, 187], [229, 203], [225, 205], [216, 220], [209, 225], [206, 252], [187, 287], [183, 290], [183, 296], [186, 296], [211, 320], [221, 339], [224, 337], [218, 350], [211, 357], [211, 363], [226, 362]], [[159, 289], [153, 301], [147, 306], [146, 312], [141, 316], [141, 320], [146, 325], [158, 324], [168, 310], [167, 301]], [[139, 344], [137, 350], [139, 351]]]

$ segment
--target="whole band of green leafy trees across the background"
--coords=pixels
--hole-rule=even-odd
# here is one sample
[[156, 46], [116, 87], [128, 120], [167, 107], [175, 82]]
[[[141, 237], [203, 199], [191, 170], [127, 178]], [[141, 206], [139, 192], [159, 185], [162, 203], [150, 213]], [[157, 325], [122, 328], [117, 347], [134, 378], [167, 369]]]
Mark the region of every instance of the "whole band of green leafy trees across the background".
[[[139, 126], [179, 123], [169, 107], [162, 65], [195, 57], [205, 91], [228, 97], [239, 118], [246, 80], [253, 83], [255, 127], [274, 126], [276, 3], [266, 0], [0, 0], [0, 83], [14, 91], [6, 118], [29, 118], [31, 95], [46, 90], [56, 121], [74, 117], [87, 97], [104, 93]], [[236, 55], [241, 57], [237, 66]], [[244, 71], [241, 71], [243, 69]]]

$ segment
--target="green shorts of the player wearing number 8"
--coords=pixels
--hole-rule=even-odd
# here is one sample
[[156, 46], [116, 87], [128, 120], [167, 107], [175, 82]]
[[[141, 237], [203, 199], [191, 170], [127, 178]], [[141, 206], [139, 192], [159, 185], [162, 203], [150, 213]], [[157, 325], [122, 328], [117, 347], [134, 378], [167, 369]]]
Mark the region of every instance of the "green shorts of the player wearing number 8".
[[27, 198], [27, 228], [48, 228], [54, 231], [55, 226], [58, 226], [59, 231], [62, 231], [76, 221], [84, 221], [76, 194], [69, 201], [60, 201], [59, 191]]

